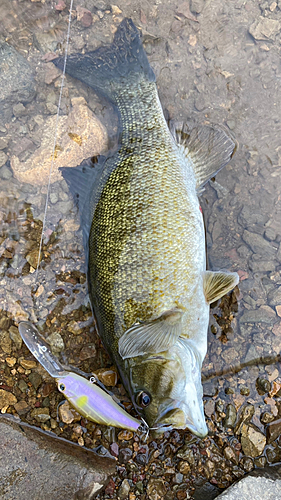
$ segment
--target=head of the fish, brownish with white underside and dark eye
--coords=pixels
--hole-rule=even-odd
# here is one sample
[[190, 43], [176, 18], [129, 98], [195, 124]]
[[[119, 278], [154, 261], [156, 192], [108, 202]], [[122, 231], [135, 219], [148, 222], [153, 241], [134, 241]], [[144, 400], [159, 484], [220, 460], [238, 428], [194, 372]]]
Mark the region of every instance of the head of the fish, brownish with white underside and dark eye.
[[193, 346], [180, 339], [169, 351], [127, 363], [131, 398], [150, 428], [157, 434], [186, 428], [201, 438], [208, 434], [201, 361]]

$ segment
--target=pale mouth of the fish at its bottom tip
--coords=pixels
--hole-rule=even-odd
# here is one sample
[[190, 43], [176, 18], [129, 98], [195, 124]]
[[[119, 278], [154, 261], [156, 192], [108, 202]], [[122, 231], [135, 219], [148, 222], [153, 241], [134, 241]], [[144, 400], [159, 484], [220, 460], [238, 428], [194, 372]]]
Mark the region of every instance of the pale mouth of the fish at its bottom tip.
[[194, 417], [190, 418], [190, 416], [187, 416], [186, 412], [181, 408], [174, 408], [157, 420], [153, 429], [156, 434], [162, 434], [172, 429], [188, 429], [192, 434], [203, 439], [208, 434], [204, 414], [200, 412], [194, 415]]

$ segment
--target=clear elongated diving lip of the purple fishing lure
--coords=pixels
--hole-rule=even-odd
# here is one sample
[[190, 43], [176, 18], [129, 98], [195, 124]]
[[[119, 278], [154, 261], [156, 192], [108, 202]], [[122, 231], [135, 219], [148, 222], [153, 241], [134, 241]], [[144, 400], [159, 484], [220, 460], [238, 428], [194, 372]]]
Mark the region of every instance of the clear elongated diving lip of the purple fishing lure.
[[30, 321], [21, 321], [18, 326], [20, 336], [26, 347], [30, 350], [37, 361], [53, 378], [64, 377], [67, 375], [62, 364], [50, 351], [50, 346], [45, 342], [36, 326]]

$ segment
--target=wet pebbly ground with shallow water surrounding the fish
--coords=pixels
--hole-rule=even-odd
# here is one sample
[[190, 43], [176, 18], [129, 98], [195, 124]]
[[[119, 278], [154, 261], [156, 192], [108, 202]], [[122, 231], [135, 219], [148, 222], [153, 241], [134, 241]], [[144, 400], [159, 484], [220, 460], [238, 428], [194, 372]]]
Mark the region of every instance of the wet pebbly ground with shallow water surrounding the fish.
[[[91, 318], [78, 214], [57, 164], [35, 272], [61, 84], [48, 61], [65, 48], [69, 3], [0, 1], [1, 411], [118, 457], [100, 498], [192, 498], [206, 482], [226, 488], [256, 466], [281, 461], [281, 3], [73, 5], [70, 52], [109, 42], [119, 22], [132, 17], [143, 31], [167, 118], [190, 128], [224, 125], [239, 145], [201, 196], [209, 268], [237, 271], [241, 279], [239, 289], [211, 309], [203, 365], [209, 436], [174, 431], [147, 442], [86, 422], [65, 405], [58, 421], [62, 395], [17, 330], [22, 319], [36, 322], [63, 361], [99, 370], [131, 409]], [[66, 77], [56, 144], [62, 148], [65, 141], [68, 154], [58, 148], [58, 164], [75, 165], [106, 150], [116, 124], [106, 103]], [[81, 151], [83, 133], [90, 139]]]

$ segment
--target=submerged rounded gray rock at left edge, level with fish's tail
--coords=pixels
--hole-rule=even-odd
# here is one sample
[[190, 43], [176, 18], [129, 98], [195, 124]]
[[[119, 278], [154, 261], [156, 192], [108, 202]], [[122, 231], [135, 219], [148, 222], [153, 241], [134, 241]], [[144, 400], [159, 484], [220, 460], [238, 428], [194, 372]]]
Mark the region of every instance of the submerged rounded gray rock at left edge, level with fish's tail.
[[11, 45], [0, 41], [0, 115], [10, 121], [12, 105], [29, 102], [35, 94], [35, 82], [28, 61]]

